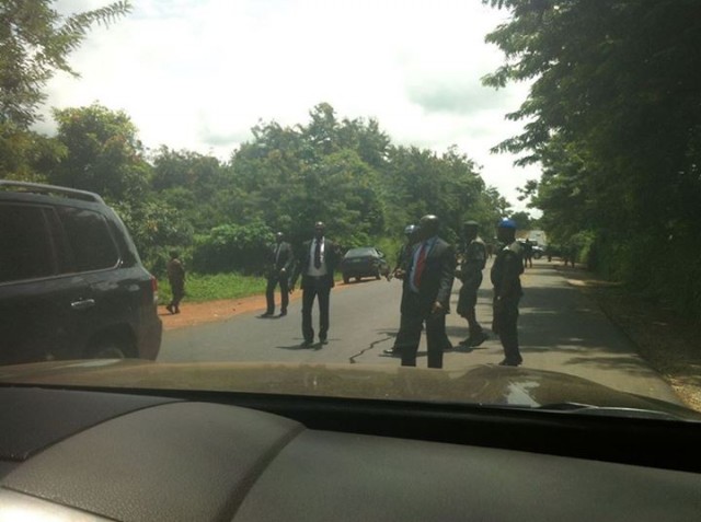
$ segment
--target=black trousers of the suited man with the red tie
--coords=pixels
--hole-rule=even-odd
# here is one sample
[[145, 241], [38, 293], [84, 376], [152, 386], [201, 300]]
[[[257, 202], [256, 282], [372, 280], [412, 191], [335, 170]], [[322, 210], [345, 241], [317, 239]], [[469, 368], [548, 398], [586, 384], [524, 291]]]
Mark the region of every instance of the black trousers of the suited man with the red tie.
[[403, 367], [416, 366], [416, 353], [421, 333], [426, 324], [428, 368], [443, 368], [443, 351], [446, 348], [446, 314], [426, 314], [421, 306], [418, 294], [404, 292], [402, 318], [394, 346], [402, 356]]

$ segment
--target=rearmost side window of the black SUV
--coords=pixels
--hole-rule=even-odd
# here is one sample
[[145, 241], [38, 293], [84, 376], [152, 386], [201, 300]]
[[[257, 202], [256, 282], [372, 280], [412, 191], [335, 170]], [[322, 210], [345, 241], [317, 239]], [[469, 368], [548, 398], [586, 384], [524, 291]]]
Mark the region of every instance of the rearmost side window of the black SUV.
[[59, 207], [57, 210], [77, 271], [112, 268], [117, 264], [119, 254], [104, 216], [80, 208]]

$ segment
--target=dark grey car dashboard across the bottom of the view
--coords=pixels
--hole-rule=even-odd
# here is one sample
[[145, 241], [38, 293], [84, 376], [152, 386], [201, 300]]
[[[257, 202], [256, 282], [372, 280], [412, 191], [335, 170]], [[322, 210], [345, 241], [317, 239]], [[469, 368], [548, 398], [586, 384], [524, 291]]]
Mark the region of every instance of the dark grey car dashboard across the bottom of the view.
[[0, 405], [0, 521], [669, 521], [701, 512], [694, 422], [36, 386], [1, 387]]

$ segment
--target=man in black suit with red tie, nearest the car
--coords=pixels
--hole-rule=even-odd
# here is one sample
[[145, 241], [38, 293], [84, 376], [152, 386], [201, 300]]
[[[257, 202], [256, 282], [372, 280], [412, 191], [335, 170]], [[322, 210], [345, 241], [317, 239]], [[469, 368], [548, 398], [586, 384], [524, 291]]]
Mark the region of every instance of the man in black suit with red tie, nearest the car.
[[443, 368], [456, 254], [452, 245], [438, 237], [436, 216], [424, 216], [418, 227], [421, 242], [404, 277], [402, 317], [395, 346], [402, 356], [402, 366], [415, 367], [421, 332], [426, 323], [428, 368]]

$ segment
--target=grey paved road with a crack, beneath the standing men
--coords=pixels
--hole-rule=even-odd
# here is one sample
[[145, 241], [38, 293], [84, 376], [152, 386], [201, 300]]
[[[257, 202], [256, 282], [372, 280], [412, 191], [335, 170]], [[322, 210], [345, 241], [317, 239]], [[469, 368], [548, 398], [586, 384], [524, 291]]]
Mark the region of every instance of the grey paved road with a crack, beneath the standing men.
[[[608, 386], [678, 402], [671, 388], [635, 353], [628, 338], [594, 302], [572, 287], [544, 259], [522, 277], [519, 333], [524, 367], [553, 370], [590, 379]], [[460, 283], [453, 288], [455, 310]], [[489, 267], [480, 289], [478, 317], [492, 322]], [[399, 324], [400, 281], [365, 280], [338, 285], [331, 294], [330, 344], [300, 348], [301, 302], [290, 303], [281, 318], [258, 318], [255, 313], [164, 334], [160, 361], [285, 361], [303, 363], [369, 363], [398, 366], [382, 355], [392, 346]], [[313, 317], [318, 323], [317, 315]], [[455, 345], [468, 335], [467, 323], [450, 314], [447, 330]], [[425, 339], [420, 355], [425, 356]], [[494, 336], [471, 352], [449, 352], [445, 368], [501, 361]], [[420, 357], [418, 366], [425, 366]]]

